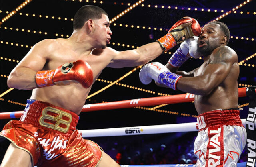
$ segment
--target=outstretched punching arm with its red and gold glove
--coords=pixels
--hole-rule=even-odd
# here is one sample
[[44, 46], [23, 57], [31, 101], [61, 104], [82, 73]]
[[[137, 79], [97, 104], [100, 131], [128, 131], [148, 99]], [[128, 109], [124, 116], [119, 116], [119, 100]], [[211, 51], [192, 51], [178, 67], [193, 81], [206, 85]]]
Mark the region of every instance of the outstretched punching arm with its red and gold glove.
[[201, 28], [197, 20], [190, 17], [181, 18], [157, 42], [129, 51], [112, 51], [110, 53], [112, 59], [108, 67], [122, 68], [143, 65], [158, 57], [163, 51], [168, 51], [189, 37], [199, 36], [200, 32]]

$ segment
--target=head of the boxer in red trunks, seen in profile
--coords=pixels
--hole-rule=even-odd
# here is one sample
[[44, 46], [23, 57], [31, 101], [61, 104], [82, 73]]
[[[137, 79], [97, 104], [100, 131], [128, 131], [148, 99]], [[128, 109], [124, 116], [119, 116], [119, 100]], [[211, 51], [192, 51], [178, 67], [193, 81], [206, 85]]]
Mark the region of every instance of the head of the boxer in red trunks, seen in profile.
[[94, 48], [105, 49], [110, 43], [112, 32], [109, 28], [108, 14], [100, 7], [82, 6], [74, 16], [74, 31], [78, 30], [90, 36], [89, 43]]

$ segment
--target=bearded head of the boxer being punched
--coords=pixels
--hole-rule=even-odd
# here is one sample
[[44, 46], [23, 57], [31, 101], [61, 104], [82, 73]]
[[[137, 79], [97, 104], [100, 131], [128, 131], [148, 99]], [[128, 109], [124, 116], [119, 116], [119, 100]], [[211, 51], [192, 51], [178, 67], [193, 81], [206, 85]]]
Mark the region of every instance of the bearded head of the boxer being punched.
[[202, 30], [199, 37], [199, 51], [202, 55], [210, 55], [214, 49], [229, 42], [230, 32], [222, 22], [209, 22]]

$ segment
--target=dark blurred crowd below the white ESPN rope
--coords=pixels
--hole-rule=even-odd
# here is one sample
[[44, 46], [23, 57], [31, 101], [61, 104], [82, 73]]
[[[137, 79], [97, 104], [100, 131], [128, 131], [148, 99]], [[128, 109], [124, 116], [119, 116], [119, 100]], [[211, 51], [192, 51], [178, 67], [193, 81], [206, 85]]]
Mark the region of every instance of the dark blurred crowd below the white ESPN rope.
[[[196, 132], [93, 138], [120, 165], [196, 164]], [[239, 162], [247, 161], [246, 148]]]

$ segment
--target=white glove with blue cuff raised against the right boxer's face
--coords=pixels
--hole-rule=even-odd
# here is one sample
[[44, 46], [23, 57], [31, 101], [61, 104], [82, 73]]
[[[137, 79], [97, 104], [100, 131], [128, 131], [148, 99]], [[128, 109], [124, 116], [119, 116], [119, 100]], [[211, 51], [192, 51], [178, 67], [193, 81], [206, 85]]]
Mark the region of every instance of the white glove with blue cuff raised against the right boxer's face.
[[198, 37], [190, 37], [182, 42], [168, 63], [173, 67], [180, 67], [190, 56], [196, 59], [201, 57], [198, 52]]

